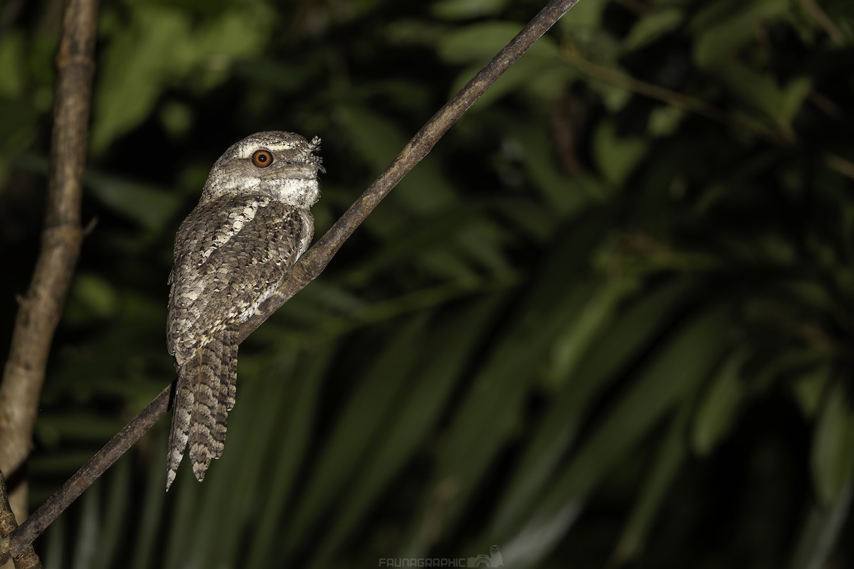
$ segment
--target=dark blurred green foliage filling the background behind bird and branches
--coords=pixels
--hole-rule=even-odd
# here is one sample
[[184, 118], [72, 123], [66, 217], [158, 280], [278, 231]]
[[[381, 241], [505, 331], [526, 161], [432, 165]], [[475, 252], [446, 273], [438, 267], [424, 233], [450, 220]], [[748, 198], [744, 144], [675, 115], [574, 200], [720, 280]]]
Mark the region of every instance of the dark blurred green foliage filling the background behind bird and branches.
[[[321, 234], [540, 8], [104, 2], [33, 506], [173, 379], [174, 231], [231, 142], [323, 137]], [[3, 7], [3, 345], [60, 11]], [[852, 44], [848, 0], [581, 0], [243, 344], [204, 483], [163, 492], [161, 421], [46, 566], [850, 565]]]

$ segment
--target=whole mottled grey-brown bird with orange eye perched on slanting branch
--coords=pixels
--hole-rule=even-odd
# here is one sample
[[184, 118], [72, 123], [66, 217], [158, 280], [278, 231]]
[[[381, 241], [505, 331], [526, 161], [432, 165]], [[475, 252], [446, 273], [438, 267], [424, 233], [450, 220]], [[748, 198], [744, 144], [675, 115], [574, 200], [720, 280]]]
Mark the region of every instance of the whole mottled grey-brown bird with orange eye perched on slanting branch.
[[270, 131], [232, 145], [178, 229], [167, 324], [178, 369], [167, 490], [188, 444], [199, 480], [222, 455], [237, 391], [237, 328], [311, 241], [319, 142]]

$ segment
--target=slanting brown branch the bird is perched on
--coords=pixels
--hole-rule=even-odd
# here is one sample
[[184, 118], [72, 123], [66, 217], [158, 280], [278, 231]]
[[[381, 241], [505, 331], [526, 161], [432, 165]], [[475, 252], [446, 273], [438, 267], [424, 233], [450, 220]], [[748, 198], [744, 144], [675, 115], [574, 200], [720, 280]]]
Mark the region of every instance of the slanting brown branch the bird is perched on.
[[[389, 194], [392, 188], [412, 170], [436, 145], [449, 128], [477, 101], [477, 97], [504, 73], [519, 56], [545, 33], [548, 28], [572, 8], [578, 0], [553, 0], [523, 28], [518, 35], [489, 61], [486, 67], [465, 85], [456, 96], [436, 113], [412, 140], [403, 148], [401, 154], [389, 165], [389, 168], [366, 189], [359, 200], [350, 206], [336, 224], [311, 247], [290, 270], [283, 286], [261, 305], [261, 311], [245, 322], [240, 328], [239, 341], [246, 339], [261, 322], [290, 299], [295, 293], [319, 276], [330, 259], [342, 247], [344, 241], [365, 220], [374, 207]], [[50, 525], [68, 504], [73, 502], [101, 474], [115, 462], [138, 438], [149, 430], [155, 422], [166, 414], [169, 389], [164, 389], [148, 407], [122, 429], [90, 462], [74, 474], [73, 478], [50, 497], [36, 512], [15, 531], [10, 540], [12, 554], [25, 547]], [[0, 542], [0, 561], [2, 557]]]

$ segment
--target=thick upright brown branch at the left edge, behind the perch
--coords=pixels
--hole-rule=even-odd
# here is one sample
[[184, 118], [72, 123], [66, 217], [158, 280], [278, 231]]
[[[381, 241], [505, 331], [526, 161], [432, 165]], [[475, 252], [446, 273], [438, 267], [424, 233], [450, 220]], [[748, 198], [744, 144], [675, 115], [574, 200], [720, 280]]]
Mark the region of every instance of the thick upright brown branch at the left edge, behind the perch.
[[[41, 250], [29, 290], [20, 300], [0, 384], [0, 470], [9, 474], [22, 472], [32, 446], [32, 426], [50, 343], [80, 251], [80, 195], [95, 69], [96, 20], [96, 0], [72, 0], [62, 20]], [[10, 494], [15, 514], [23, 519], [26, 484], [13, 483]]]

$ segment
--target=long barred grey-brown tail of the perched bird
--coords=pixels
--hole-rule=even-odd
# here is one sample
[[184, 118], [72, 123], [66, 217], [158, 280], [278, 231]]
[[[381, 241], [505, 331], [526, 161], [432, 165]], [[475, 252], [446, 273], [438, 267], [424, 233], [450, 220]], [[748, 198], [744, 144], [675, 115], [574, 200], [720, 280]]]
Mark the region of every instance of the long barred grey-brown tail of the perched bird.
[[211, 460], [222, 456], [225, 447], [228, 412], [234, 407], [237, 392], [237, 345], [234, 329], [217, 335], [178, 367], [169, 433], [167, 491], [187, 444], [190, 444], [193, 473], [200, 481]]

